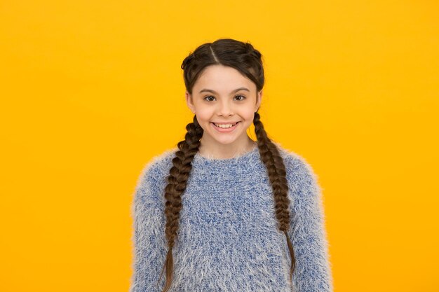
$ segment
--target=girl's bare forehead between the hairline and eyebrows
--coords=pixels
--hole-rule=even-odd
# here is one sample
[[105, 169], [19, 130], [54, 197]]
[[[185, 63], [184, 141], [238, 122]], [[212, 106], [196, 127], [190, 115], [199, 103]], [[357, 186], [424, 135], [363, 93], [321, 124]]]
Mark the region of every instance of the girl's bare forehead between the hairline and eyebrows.
[[255, 83], [243, 76], [240, 71], [223, 65], [211, 65], [206, 67], [194, 84], [194, 88], [196, 89], [233, 90], [239, 87], [256, 90]]

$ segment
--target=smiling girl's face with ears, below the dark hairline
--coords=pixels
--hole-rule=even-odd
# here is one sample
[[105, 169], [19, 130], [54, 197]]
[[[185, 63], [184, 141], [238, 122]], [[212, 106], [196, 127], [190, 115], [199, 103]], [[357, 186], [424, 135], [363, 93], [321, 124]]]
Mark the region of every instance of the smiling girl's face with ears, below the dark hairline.
[[[203, 140], [240, 146], [248, 143], [246, 131], [261, 104], [262, 90], [257, 92], [255, 83], [234, 68], [211, 65], [196, 81], [192, 95], [186, 92], [186, 101], [204, 130]], [[236, 122], [231, 129], [213, 124]]]

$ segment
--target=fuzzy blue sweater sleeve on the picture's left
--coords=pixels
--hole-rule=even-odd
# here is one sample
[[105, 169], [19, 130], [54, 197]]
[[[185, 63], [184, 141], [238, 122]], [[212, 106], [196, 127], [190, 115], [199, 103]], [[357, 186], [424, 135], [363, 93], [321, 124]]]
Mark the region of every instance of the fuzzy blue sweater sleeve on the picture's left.
[[[147, 165], [135, 188], [131, 205], [133, 217], [133, 274], [130, 292], [159, 292], [161, 269], [165, 262], [163, 202], [154, 169]], [[161, 281], [163, 282], [163, 273]]]

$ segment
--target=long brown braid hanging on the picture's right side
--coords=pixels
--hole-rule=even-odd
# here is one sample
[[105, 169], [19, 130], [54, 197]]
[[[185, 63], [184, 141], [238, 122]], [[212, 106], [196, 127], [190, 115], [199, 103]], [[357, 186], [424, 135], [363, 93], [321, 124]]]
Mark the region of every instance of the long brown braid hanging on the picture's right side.
[[290, 237], [288, 237], [288, 228], [290, 226], [290, 211], [288, 199], [288, 181], [286, 179], [285, 164], [275, 144], [267, 137], [264, 130], [264, 125], [260, 121], [259, 113], [255, 113], [253, 119], [255, 125], [255, 133], [257, 137], [257, 146], [261, 155], [261, 160], [264, 162], [269, 173], [269, 180], [273, 188], [273, 197], [276, 218], [278, 220], [278, 228], [283, 231], [287, 237], [288, 249], [291, 256], [290, 279], [292, 281], [292, 272], [295, 269], [295, 256], [292, 249]]

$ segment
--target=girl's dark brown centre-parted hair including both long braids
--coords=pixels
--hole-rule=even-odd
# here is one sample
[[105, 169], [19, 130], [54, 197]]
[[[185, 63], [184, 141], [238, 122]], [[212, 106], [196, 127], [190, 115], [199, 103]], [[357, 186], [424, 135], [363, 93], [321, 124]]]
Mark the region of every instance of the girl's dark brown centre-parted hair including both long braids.
[[[218, 39], [213, 43], [204, 43], [184, 58], [181, 68], [184, 70], [184, 85], [190, 94], [203, 69], [215, 64], [222, 64], [238, 70], [243, 76], [255, 83], [257, 91], [262, 90], [264, 87], [264, 67], [262, 66], [261, 53], [253, 48], [250, 43], [243, 43], [234, 39]], [[278, 148], [267, 137], [264, 125], [262, 125], [259, 113], [257, 112], [255, 112], [253, 124], [255, 125], [257, 147], [259, 148], [262, 162], [264, 162], [268, 171], [269, 181], [273, 188], [278, 228], [285, 233], [288, 249], [290, 250], [290, 279], [292, 280], [295, 256], [287, 233], [290, 225], [290, 200], [288, 199], [285, 164]], [[180, 150], [175, 152], [173, 167], [170, 168], [167, 178], [168, 184], [165, 188], [165, 234], [168, 241], [168, 253], [160, 275], [161, 279], [163, 270], [166, 268], [166, 284], [162, 292], [169, 290], [173, 280], [173, 246], [177, 237], [180, 211], [182, 209], [182, 193], [186, 189], [189, 173], [192, 169], [191, 162], [194, 159], [194, 155], [198, 152], [201, 144], [200, 139], [203, 137], [203, 129], [198, 124], [196, 116], [194, 116], [194, 123], [189, 123], [186, 126], [186, 130], [187, 133], [184, 140], [177, 144]]]

